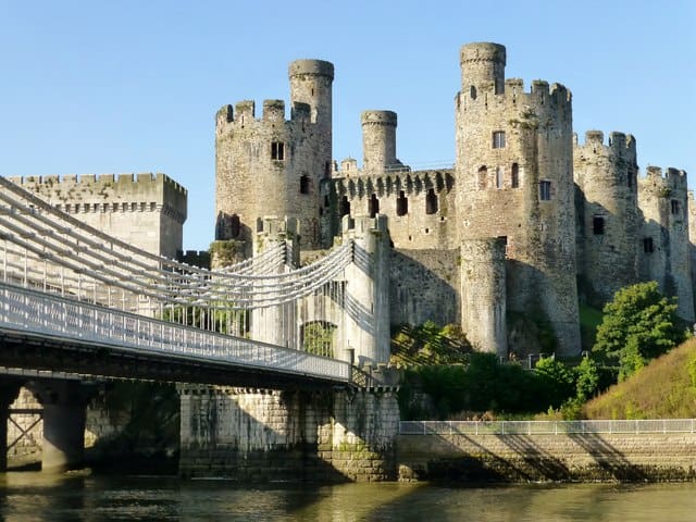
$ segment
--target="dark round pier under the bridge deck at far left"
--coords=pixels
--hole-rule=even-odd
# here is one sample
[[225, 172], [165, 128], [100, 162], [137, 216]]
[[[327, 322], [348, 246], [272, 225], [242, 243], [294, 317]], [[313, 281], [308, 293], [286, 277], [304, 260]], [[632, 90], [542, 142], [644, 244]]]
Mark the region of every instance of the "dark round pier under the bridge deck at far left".
[[27, 387], [44, 406], [41, 471], [79, 468], [85, 456], [86, 408], [96, 387], [71, 380], [33, 381]]

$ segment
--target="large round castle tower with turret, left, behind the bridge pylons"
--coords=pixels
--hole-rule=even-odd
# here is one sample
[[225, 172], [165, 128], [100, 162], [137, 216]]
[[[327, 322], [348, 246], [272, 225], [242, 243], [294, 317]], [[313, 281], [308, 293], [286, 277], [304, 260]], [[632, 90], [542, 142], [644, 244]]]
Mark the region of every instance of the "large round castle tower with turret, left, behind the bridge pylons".
[[290, 119], [282, 100], [253, 101], [217, 111], [215, 133], [215, 239], [236, 241], [251, 256], [260, 219], [299, 220], [302, 248], [321, 246], [324, 209], [320, 182], [331, 175], [334, 66], [321, 60], [289, 65]]

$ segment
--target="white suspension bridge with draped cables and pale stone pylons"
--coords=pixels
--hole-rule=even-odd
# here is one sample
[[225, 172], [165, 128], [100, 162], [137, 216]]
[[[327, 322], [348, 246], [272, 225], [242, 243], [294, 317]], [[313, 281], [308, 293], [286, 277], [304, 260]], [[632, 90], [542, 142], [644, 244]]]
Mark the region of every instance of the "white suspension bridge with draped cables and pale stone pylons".
[[33, 383], [44, 468], [64, 468], [80, 460], [89, 382], [369, 385], [365, 370], [389, 353], [386, 221], [346, 219], [335, 247], [306, 266], [298, 229], [261, 220], [251, 258], [207, 270], [111, 237], [0, 177], [0, 419]]

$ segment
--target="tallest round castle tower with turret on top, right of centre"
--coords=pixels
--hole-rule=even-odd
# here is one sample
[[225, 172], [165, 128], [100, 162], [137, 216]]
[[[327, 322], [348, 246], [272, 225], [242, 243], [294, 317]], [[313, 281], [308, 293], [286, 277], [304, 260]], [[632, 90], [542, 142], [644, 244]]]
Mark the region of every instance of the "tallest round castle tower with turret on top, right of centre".
[[542, 80], [524, 92], [522, 80], [506, 80], [502, 46], [465, 45], [460, 57], [459, 239], [504, 238], [507, 309], [548, 320], [559, 355], [575, 356], [581, 347], [571, 94]]

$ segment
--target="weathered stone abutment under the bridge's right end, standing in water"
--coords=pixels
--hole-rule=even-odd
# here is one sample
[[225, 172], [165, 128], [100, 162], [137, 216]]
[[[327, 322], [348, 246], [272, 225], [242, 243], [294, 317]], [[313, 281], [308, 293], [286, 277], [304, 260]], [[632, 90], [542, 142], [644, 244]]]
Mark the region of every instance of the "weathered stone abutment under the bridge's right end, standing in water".
[[262, 390], [181, 386], [179, 472], [252, 482], [395, 478], [393, 388]]

